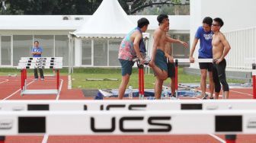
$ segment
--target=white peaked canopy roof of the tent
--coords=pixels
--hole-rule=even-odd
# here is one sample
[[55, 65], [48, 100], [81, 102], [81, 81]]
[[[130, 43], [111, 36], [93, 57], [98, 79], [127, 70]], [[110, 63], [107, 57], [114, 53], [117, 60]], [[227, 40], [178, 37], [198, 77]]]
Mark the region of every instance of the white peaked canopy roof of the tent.
[[76, 37], [124, 37], [136, 27], [117, 0], [103, 0], [85, 24], [73, 34]]

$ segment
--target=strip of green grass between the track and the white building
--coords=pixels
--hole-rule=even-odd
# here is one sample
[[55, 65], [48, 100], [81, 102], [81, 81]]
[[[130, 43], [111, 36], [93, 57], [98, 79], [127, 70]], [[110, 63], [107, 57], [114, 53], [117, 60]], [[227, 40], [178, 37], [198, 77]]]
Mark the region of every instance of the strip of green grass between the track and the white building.
[[[68, 75], [68, 68], [60, 70], [61, 75]], [[150, 70], [152, 71], [152, 70]], [[50, 69], [44, 69], [45, 74], [52, 74]], [[183, 68], [178, 69], [178, 82], [179, 83], [199, 83], [200, 76], [184, 74]], [[20, 71], [16, 68], [0, 68], [0, 75], [20, 75]], [[27, 70], [27, 75], [33, 75], [33, 70]], [[117, 78], [118, 81], [86, 81], [86, 78]], [[119, 87], [121, 82], [120, 68], [74, 68], [74, 74], [72, 74], [72, 88], [85, 88], [85, 89], [102, 89]], [[155, 83], [155, 77], [152, 73], [145, 75], [145, 88], [153, 88]], [[165, 80], [165, 84], [169, 84], [170, 78]], [[241, 80], [228, 79], [229, 83], [244, 83]], [[138, 88], [138, 69], [133, 68], [133, 74], [130, 77], [129, 85], [133, 88]]]

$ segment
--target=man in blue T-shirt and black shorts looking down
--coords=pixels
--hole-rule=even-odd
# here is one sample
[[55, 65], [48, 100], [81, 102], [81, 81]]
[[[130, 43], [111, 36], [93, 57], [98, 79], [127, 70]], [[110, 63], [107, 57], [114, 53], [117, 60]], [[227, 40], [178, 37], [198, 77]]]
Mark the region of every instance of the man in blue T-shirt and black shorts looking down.
[[[198, 50], [198, 59], [213, 59], [213, 31], [211, 26], [213, 19], [211, 17], [205, 17], [203, 19], [203, 26], [198, 27], [197, 33], [194, 37], [194, 42], [190, 50], [190, 62], [194, 62], [194, 50], [196, 49], [198, 40], [200, 40], [200, 49]], [[207, 99], [206, 94], [206, 78], [207, 71], [209, 73], [209, 84], [210, 84], [210, 99], [213, 99], [213, 63], [212, 62], [201, 62], [199, 63], [201, 72], [200, 87], [202, 90], [203, 99]]]

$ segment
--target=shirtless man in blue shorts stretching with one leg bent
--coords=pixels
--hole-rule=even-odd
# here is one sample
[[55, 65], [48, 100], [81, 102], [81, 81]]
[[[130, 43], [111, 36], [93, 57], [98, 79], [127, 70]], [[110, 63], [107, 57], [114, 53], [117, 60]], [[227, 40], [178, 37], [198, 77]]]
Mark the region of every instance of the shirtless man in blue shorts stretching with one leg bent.
[[168, 68], [165, 59], [165, 44], [169, 43], [181, 43], [187, 47], [187, 43], [180, 40], [174, 40], [166, 36], [165, 29], [169, 26], [168, 15], [160, 14], [157, 17], [159, 27], [154, 32], [154, 44], [152, 49], [152, 58], [149, 62], [149, 66], [155, 72], [155, 98], [160, 99], [162, 92], [162, 84], [168, 76]]

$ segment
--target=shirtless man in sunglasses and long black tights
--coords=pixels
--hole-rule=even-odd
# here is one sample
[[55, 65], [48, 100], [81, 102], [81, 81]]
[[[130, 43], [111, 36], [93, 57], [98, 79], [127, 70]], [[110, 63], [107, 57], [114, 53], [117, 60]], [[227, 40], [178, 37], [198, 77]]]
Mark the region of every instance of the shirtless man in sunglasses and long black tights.
[[223, 99], [229, 98], [229, 84], [226, 81], [226, 55], [231, 49], [226, 37], [219, 30], [224, 22], [219, 17], [213, 19], [213, 82], [215, 85], [215, 98], [219, 98], [219, 91], [221, 89], [220, 83], [224, 91]]

